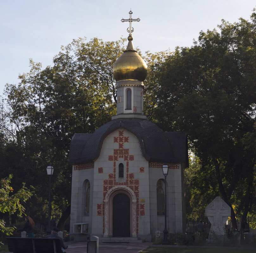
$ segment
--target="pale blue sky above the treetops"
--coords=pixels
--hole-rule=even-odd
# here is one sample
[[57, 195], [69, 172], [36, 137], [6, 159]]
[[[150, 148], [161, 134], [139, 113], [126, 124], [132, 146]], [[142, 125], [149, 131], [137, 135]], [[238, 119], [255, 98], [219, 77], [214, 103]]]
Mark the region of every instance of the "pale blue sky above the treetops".
[[29, 59], [42, 68], [73, 39], [127, 37], [132, 22], [133, 45], [152, 53], [192, 46], [201, 30], [249, 20], [255, 0], [0, 0], [0, 96], [6, 83], [17, 84], [29, 72]]

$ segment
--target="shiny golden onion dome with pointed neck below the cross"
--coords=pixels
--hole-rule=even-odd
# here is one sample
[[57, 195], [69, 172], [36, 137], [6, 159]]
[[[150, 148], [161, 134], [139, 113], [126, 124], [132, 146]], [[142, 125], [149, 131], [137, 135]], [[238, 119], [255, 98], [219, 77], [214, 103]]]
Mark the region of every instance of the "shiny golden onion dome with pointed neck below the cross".
[[116, 81], [139, 80], [143, 82], [147, 76], [147, 65], [134, 50], [132, 36], [128, 36], [128, 45], [123, 54], [113, 65], [113, 75]]

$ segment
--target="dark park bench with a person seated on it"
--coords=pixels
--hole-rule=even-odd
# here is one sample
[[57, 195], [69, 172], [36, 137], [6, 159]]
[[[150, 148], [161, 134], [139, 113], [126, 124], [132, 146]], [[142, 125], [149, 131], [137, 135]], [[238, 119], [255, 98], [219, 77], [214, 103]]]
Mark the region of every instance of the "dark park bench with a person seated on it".
[[8, 248], [13, 253], [62, 253], [59, 238], [7, 237]]

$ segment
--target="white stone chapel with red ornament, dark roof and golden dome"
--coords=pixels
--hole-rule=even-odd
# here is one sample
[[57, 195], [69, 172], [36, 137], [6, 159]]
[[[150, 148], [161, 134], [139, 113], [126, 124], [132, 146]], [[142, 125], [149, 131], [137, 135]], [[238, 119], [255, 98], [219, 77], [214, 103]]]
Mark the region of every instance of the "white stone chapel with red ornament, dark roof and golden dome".
[[167, 164], [167, 230], [185, 232], [184, 169], [188, 167], [185, 133], [163, 132], [143, 114], [144, 60], [131, 34], [113, 65], [117, 81], [117, 115], [94, 133], [75, 133], [70, 145], [73, 165], [70, 233], [153, 241], [163, 232]]

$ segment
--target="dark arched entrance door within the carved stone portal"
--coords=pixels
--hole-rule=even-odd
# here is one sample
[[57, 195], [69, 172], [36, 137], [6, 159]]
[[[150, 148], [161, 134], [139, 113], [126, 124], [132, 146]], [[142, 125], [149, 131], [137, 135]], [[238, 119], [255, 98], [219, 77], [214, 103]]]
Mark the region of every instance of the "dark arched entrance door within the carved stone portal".
[[130, 198], [118, 193], [112, 201], [113, 237], [130, 237]]

